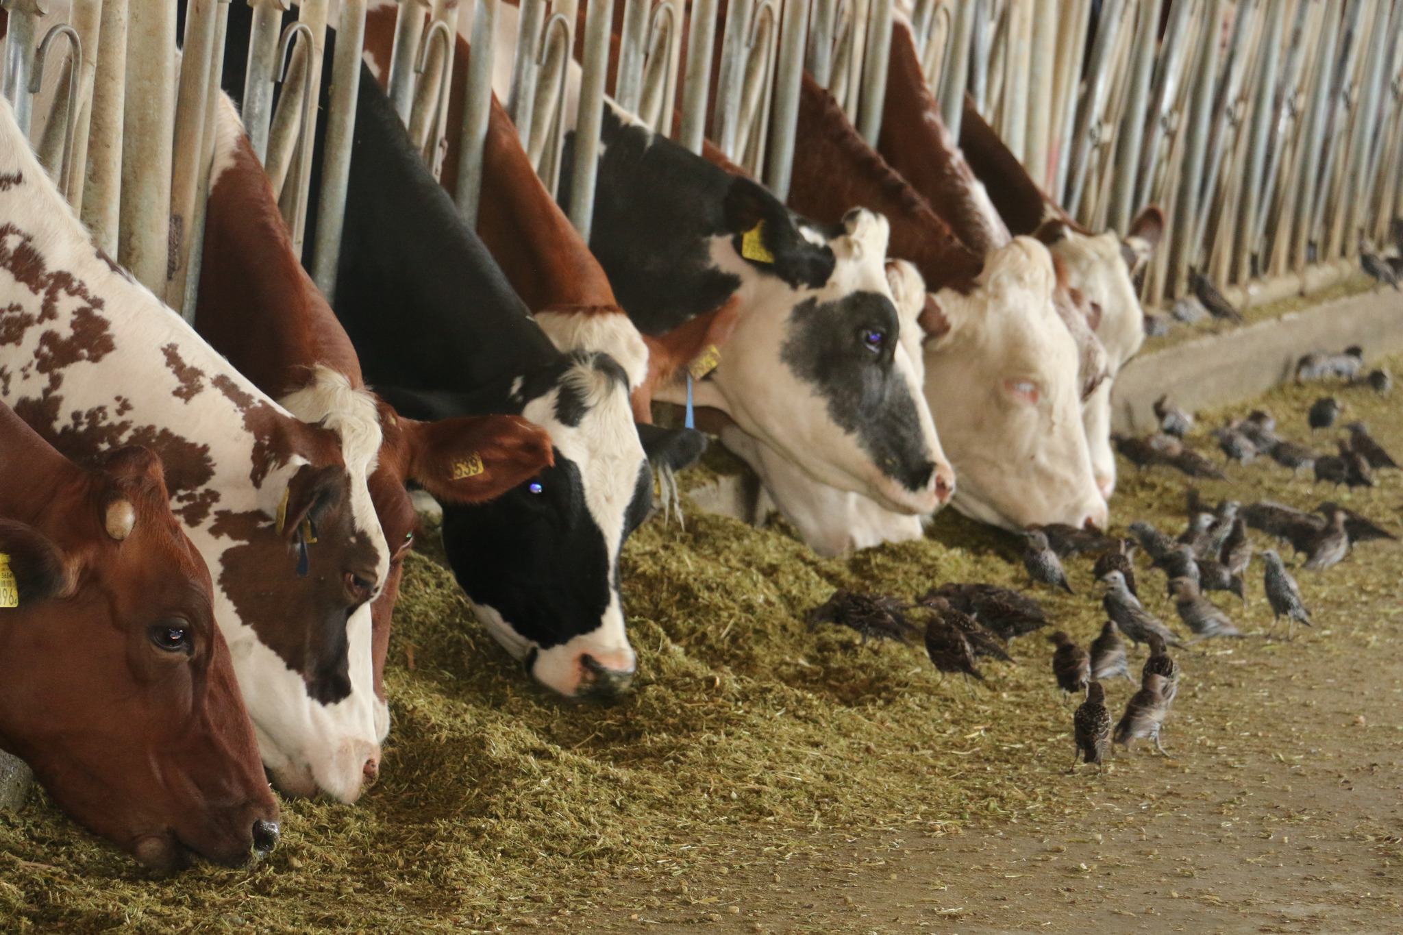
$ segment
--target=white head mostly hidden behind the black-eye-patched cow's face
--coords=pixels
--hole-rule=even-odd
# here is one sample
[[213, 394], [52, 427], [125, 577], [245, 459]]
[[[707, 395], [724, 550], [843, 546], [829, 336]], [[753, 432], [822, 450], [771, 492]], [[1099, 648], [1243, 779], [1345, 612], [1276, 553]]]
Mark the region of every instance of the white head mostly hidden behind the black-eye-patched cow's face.
[[[887, 280], [901, 315], [901, 345], [919, 385], [926, 370], [920, 349], [925, 332], [919, 322], [926, 307], [926, 283], [916, 268], [904, 259], [887, 262]], [[734, 425], [721, 430], [721, 442], [751, 465], [769, 499], [794, 524], [800, 537], [822, 555], [842, 555], [923, 534], [919, 516], [894, 513], [861, 493], [819, 484], [797, 464]]]

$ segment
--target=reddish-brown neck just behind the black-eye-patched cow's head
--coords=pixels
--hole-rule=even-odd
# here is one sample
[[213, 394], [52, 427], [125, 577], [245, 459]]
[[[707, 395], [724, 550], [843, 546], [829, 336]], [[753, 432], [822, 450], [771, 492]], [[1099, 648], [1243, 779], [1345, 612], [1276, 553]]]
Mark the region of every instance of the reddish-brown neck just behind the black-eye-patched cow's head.
[[860, 206], [887, 216], [887, 252], [916, 265], [929, 292], [968, 293], [984, 261], [853, 129], [833, 95], [808, 73], [800, 93], [790, 207], [838, 223]]

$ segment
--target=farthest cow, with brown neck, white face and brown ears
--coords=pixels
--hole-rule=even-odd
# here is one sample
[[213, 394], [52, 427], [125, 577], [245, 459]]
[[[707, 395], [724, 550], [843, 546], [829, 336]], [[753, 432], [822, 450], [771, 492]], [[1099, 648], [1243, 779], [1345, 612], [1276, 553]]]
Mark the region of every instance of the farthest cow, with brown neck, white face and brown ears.
[[[892, 76], [895, 79], [895, 74]], [[888, 87], [892, 84], [888, 79]], [[1097, 314], [1096, 336], [1106, 349], [1108, 377], [1083, 405], [1096, 482], [1110, 498], [1115, 489], [1115, 456], [1110, 446], [1111, 384], [1125, 362], [1145, 342], [1145, 321], [1135, 276], [1145, 268], [1164, 231], [1164, 214], [1150, 205], [1131, 221], [1125, 240], [1115, 231], [1093, 234], [1076, 224], [1028, 177], [1003, 140], [965, 98], [960, 147], [971, 171], [986, 185], [999, 216], [1016, 234], [1048, 244], [1066, 269], [1068, 283], [1090, 301]]]

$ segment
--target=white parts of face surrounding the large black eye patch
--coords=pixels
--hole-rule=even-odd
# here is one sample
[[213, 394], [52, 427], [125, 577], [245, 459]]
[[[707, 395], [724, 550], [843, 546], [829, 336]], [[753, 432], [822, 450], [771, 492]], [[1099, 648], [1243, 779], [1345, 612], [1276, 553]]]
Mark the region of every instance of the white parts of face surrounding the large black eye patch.
[[[923, 458], [936, 465], [926, 485], [916, 491], [885, 472], [859, 435], [835, 422], [831, 401], [821, 388], [796, 374], [783, 359], [796, 334], [796, 307], [810, 300], [819, 307], [839, 304], [863, 294], [892, 299], [884, 271], [887, 220], [856, 210], [849, 213], [845, 228], [845, 234], [828, 241], [836, 265], [819, 289], [796, 289], [777, 276], [758, 275], [755, 266], [735, 252], [732, 238], [713, 238], [711, 259], [716, 266], [741, 278], [742, 285], [734, 299], [739, 303], [739, 313], [735, 329], [721, 349], [720, 366], [693, 387], [696, 402], [724, 411], [745, 433], [821, 484], [863, 493], [887, 509], [908, 514], [929, 513], [939, 506], [936, 478], [940, 477], [948, 486], [953, 475], [905, 343], [895, 346], [891, 374], [911, 400], [916, 437], [901, 439], [899, 443], [911, 450], [923, 450]], [[800, 231], [805, 237], [815, 233], [803, 224]], [[897, 322], [895, 317], [892, 322]], [[859, 341], [856, 322], [850, 328], [846, 324], [840, 327], [840, 339]], [[875, 363], [871, 366], [875, 367]], [[857, 385], [831, 388], [835, 394], [857, 394], [860, 390]], [[682, 404], [686, 388], [682, 383], [668, 384], [659, 387], [654, 397]], [[880, 430], [874, 426], [875, 422], [871, 422], [863, 429]]]

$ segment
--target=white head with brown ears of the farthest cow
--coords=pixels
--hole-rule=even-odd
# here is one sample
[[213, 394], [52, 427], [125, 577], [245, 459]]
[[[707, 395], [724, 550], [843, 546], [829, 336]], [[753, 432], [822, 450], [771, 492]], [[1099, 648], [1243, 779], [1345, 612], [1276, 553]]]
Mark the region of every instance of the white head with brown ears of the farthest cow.
[[1107, 499], [1115, 491], [1115, 454], [1110, 443], [1111, 383], [1145, 341], [1143, 311], [1135, 283], [1163, 231], [1164, 214], [1150, 205], [1131, 223], [1125, 240], [1114, 231], [1085, 234], [1059, 220], [1047, 221], [1035, 234], [1062, 262], [1068, 285], [1086, 296], [1100, 313], [1093, 328], [1106, 348], [1111, 378], [1086, 400], [1082, 414], [1096, 484]]

